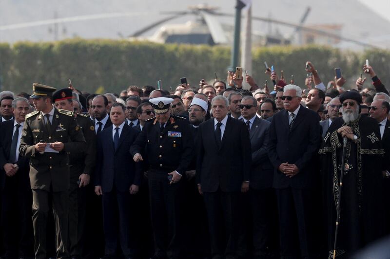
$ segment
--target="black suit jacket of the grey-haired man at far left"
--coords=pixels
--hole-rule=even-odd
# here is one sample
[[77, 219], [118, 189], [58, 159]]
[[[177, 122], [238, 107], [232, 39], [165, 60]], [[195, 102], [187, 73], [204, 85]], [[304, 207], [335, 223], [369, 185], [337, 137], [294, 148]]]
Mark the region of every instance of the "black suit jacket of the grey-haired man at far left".
[[[20, 128], [19, 130], [22, 130]], [[11, 143], [12, 136], [14, 131], [14, 119], [4, 121], [0, 123], [0, 188], [4, 189], [5, 175], [4, 165], [11, 163], [9, 161], [9, 156], [11, 152]], [[20, 174], [20, 181], [23, 186], [26, 186], [27, 189], [30, 189], [30, 178], [29, 178], [29, 159], [19, 155], [19, 160], [16, 163], [19, 166], [17, 174]]]

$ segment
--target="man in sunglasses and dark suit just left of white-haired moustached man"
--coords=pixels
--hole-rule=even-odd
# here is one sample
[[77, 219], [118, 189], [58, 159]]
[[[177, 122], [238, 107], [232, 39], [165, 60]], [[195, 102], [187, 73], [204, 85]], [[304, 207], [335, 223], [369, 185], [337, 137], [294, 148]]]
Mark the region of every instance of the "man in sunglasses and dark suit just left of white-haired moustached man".
[[[268, 103], [267, 100], [270, 99], [266, 99], [260, 107]], [[268, 129], [271, 123], [256, 116], [256, 105], [256, 99], [252, 96], [245, 96], [240, 104], [243, 121], [249, 130], [252, 149], [250, 204], [253, 214], [254, 258], [276, 258], [278, 256], [277, 207], [275, 191], [272, 188], [273, 166], [268, 158], [267, 147]]]

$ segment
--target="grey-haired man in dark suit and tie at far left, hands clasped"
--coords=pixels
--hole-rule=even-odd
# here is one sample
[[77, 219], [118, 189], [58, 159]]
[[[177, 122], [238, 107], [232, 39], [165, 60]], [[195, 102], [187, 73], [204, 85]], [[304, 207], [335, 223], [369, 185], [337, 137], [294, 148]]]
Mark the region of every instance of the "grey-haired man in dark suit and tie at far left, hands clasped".
[[15, 119], [0, 123], [1, 222], [6, 258], [30, 257], [34, 253], [29, 160], [19, 155], [21, 130], [29, 107], [26, 98], [17, 97], [12, 101]]

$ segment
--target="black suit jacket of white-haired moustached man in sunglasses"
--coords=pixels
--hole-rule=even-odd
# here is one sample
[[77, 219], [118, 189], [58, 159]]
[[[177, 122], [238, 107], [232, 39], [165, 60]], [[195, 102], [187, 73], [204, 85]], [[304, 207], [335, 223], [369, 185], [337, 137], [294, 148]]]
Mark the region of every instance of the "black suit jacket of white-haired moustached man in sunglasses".
[[[317, 152], [321, 144], [318, 114], [302, 105], [289, 129], [289, 113], [279, 111], [273, 115], [269, 131], [269, 157], [274, 167], [273, 187], [281, 189], [313, 188], [317, 172]], [[278, 170], [282, 163], [295, 164], [298, 174], [292, 178]]]

